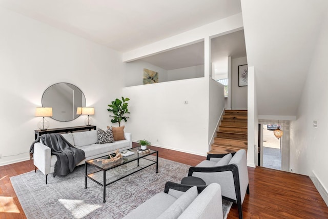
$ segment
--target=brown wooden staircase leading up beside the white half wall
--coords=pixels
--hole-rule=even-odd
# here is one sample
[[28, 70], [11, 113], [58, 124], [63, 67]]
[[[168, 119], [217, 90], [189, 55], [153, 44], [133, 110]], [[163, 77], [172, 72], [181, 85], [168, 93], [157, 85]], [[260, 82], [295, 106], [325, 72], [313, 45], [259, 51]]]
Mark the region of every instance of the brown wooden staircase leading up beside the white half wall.
[[231, 153], [247, 150], [247, 110], [225, 110], [208, 153]]

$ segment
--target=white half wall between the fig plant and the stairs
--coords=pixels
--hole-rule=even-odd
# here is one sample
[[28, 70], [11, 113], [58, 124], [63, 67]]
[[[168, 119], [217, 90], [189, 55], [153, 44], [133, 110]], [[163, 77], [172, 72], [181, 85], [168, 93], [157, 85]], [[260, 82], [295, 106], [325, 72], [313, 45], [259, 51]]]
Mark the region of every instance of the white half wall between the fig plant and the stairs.
[[133, 133], [133, 141], [146, 139], [155, 146], [205, 156], [208, 151], [205, 80], [193, 78], [124, 88], [123, 94], [131, 99], [126, 130]]

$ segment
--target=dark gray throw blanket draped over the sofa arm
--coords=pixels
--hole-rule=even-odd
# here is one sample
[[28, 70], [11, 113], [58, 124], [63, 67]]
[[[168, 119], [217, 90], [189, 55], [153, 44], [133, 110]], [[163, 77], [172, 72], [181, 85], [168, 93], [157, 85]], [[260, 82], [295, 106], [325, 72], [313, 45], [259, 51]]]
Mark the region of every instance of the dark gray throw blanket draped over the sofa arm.
[[40, 142], [40, 140], [51, 149], [52, 155], [57, 156], [53, 177], [71, 173], [76, 165], [86, 158], [83, 150], [75, 148], [61, 134], [57, 133], [39, 136], [32, 143], [30, 153], [33, 153], [34, 144]]

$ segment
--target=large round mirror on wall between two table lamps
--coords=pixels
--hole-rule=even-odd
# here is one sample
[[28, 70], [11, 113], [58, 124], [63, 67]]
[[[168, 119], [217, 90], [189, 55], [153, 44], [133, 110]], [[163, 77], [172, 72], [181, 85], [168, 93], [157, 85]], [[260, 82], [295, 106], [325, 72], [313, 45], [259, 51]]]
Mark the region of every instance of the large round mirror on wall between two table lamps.
[[77, 107], [86, 106], [83, 92], [70, 83], [57, 83], [46, 89], [42, 95], [42, 106], [52, 107], [52, 118], [61, 122], [75, 120]]

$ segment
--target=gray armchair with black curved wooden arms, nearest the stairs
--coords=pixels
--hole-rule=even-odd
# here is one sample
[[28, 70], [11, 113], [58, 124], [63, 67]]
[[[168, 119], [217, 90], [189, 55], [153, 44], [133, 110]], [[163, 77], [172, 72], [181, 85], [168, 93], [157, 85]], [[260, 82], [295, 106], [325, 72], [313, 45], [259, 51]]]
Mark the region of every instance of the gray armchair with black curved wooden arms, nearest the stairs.
[[242, 202], [249, 194], [249, 178], [245, 150], [232, 154], [208, 154], [207, 160], [190, 167], [188, 176], [201, 178], [206, 185], [218, 183], [222, 197], [236, 203], [242, 218]]

